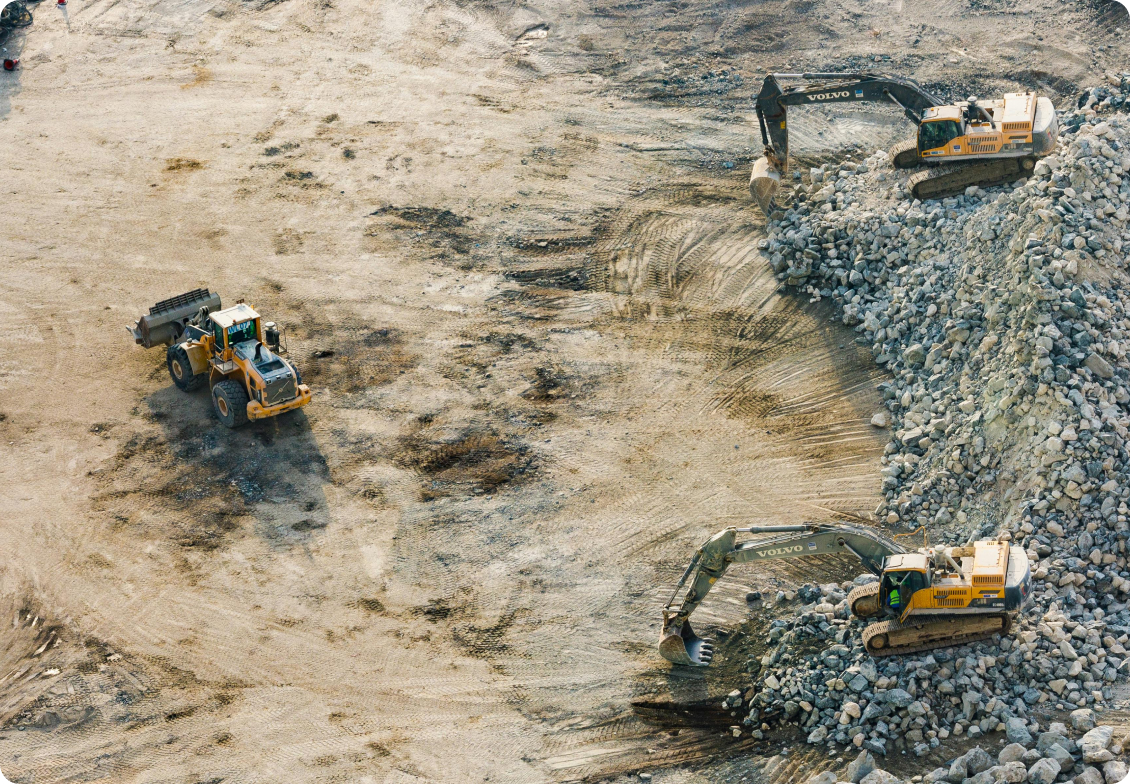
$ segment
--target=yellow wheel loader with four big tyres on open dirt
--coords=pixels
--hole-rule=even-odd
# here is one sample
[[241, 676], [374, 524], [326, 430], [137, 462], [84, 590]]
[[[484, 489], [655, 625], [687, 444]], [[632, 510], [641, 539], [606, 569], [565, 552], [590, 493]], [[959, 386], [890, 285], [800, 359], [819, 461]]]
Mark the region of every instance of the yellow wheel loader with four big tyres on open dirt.
[[149, 308], [130, 329], [145, 348], [164, 345], [168, 375], [184, 392], [211, 387], [226, 427], [302, 408], [313, 397], [286, 352], [281, 331], [242, 299], [223, 308], [218, 294], [194, 289]]

